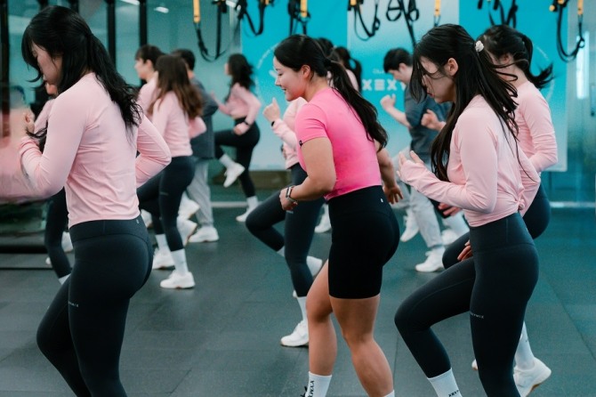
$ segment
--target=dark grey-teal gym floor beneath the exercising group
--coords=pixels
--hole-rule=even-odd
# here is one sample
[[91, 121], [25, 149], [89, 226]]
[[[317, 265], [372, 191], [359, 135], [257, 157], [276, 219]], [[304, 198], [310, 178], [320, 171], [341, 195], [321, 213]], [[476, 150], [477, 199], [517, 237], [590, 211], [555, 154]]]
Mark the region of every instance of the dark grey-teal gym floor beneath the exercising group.
[[[224, 199], [241, 200], [237, 187]], [[259, 192], [261, 199], [265, 195]], [[283, 259], [218, 206], [216, 243], [189, 244], [197, 287], [159, 288], [167, 271], [153, 271], [130, 306], [122, 379], [131, 396], [298, 397], [307, 381], [308, 348], [287, 348], [300, 312]], [[402, 213], [396, 210], [402, 224]], [[553, 209], [536, 241], [540, 280], [527, 324], [536, 357], [552, 376], [532, 396], [596, 396], [596, 228], [594, 209]], [[355, 225], [358, 227], [358, 225]], [[325, 257], [330, 234], [316, 235], [311, 255]], [[69, 396], [67, 385], [35, 343], [36, 327], [59, 287], [44, 263], [41, 233], [0, 233], [0, 397]], [[31, 247], [33, 246], [33, 247]], [[16, 248], [15, 248], [16, 247]], [[20, 248], [19, 248], [20, 247]], [[434, 274], [414, 270], [424, 260], [420, 236], [401, 243], [385, 267], [376, 336], [394, 373], [397, 396], [433, 396], [431, 386], [398, 335], [399, 303]], [[465, 314], [434, 328], [450, 354], [463, 396], [484, 395], [471, 369]], [[495, 346], [498, 349], [498, 346]], [[363, 396], [341, 336], [330, 397]]]

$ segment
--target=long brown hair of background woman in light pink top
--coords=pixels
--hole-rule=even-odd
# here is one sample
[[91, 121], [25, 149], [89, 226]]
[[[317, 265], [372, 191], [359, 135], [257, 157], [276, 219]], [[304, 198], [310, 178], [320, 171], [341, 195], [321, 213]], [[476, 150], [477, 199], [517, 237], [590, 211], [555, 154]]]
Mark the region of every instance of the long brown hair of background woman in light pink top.
[[172, 91], [189, 118], [201, 116], [203, 101], [197, 88], [190, 84], [184, 60], [176, 55], [162, 55], [157, 60], [156, 70], [158, 94], [149, 106], [149, 113], [152, 113], [157, 100], [163, 99], [166, 93]]

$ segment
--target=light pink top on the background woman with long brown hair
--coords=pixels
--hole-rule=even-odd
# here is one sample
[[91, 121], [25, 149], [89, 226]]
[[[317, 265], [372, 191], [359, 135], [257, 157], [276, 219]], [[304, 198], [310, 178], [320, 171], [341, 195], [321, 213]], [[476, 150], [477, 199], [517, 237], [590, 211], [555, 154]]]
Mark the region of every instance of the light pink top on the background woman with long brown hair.
[[172, 157], [192, 155], [189, 140], [189, 116], [173, 91], [165, 93], [153, 105], [153, 124], [165, 139]]

